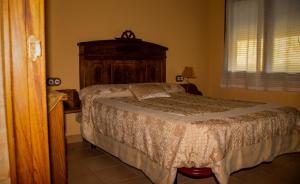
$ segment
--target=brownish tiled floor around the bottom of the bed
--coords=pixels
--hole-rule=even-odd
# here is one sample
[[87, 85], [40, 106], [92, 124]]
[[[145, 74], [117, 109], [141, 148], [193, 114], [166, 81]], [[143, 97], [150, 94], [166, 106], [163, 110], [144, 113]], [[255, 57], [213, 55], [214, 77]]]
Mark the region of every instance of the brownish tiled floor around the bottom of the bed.
[[[68, 144], [69, 184], [151, 184], [139, 170], [87, 143]], [[272, 163], [238, 171], [229, 184], [299, 184], [300, 153], [283, 155]], [[179, 174], [178, 184], [217, 184], [214, 177], [191, 179]]]

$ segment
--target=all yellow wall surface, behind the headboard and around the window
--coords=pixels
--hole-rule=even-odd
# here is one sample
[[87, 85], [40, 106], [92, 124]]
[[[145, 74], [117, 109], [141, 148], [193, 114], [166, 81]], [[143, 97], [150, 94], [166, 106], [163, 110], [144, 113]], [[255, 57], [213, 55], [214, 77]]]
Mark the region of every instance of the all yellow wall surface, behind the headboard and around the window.
[[[275, 102], [300, 109], [300, 93], [220, 88], [224, 55], [225, 0], [49, 0], [46, 1], [48, 76], [59, 89], [79, 89], [77, 43], [119, 37], [131, 29], [138, 38], [169, 48], [167, 81], [193, 66], [207, 96]], [[75, 114], [66, 116], [67, 135], [79, 134]]]

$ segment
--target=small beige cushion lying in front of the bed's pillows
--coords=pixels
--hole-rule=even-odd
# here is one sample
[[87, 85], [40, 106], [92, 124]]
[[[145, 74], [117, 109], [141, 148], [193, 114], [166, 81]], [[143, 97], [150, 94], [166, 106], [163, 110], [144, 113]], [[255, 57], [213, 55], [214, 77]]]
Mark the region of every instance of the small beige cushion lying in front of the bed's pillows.
[[165, 91], [161, 84], [143, 83], [129, 85], [130, 91], [138, 100], [158, 97], [170, 97], [170, 94]]

